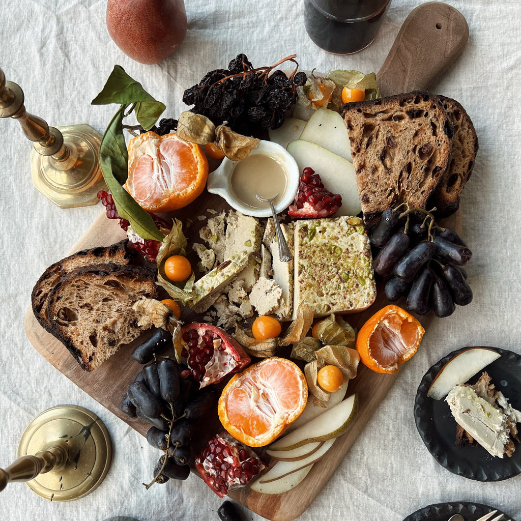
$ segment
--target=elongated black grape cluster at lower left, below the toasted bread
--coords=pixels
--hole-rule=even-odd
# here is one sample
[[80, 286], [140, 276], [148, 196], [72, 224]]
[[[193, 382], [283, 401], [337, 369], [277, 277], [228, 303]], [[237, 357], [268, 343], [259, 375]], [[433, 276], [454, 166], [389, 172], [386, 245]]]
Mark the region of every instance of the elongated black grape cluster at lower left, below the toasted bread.
[[154, 468], [152, 483], [187, 479], [190, 475], [193, 436], [198, 422], [217, 404], [210, 389], [195, 389], [192, 379], [182, 378], [187, 369], [177, 361], [159, 353], [172, 347], [172, 336], [158, 328], [150, 339], [135, 348], [132, 358], [143, 365], [121, 401], [121, 411], [131, 418], [139, 417], [151, 424], [146, 439], [163, 451]]

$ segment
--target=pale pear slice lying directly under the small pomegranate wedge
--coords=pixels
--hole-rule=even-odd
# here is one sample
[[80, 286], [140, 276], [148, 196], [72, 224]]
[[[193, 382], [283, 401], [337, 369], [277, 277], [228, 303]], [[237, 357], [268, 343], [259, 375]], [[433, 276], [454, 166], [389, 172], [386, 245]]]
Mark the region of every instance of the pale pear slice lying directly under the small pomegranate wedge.
[[294, 157], [301, 173], [306, 167], [313, 168], [327, 190], [342, 196], [342, 206], [336, 216], [358, 215], [362, 211], [356, 188], [355, 169], [347, 159], [333, 154], [323, 146], [302, 139], [289, 143], [286, 150]]

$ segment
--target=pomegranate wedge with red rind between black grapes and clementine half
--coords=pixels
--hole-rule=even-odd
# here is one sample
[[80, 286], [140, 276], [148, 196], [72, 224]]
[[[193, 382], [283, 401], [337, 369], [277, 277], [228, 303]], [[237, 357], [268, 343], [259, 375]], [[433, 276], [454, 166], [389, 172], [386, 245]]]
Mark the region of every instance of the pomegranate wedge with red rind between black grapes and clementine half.
[[195, 322], [183, 326], [181, 331], [183, 356], [187, 358], [194, 380], [200, 382], [200, 389], [220, 382], [251, 363], [241, 344], [218, 327]]

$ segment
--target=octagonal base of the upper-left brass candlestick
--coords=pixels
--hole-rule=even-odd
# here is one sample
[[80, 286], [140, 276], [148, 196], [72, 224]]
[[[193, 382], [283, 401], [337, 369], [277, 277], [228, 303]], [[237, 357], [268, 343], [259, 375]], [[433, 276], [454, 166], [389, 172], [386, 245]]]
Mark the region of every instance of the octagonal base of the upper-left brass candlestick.
[[56, 130], [63, 135], [61, 152], [47, 156], [36, 147], [31, 152], [34, 188], [60, 208], [96, 204], [97, 192], [106, 189], [98, 163], [102, 135], [86, 123]]

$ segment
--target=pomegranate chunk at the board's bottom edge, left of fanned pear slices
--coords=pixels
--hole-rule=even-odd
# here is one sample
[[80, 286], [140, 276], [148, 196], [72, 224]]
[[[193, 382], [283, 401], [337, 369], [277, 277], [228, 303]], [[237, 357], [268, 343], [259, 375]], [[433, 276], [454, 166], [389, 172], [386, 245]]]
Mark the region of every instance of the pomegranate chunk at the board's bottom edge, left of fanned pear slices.
[[250, 447], [228, 433], [214, 436], [195, 458], [195, 468], [219, 498], [244, 487], [266, 466]]

